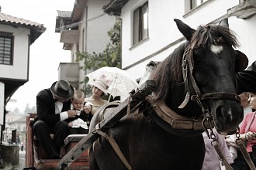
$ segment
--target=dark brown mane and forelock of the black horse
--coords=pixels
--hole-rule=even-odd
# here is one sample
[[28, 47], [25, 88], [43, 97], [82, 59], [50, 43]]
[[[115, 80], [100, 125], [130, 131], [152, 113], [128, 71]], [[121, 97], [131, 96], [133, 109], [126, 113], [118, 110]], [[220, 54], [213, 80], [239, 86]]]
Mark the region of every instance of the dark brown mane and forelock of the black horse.
[[188, 46], [192, 49], [197, 47], [207, 49], [212, 44], [221, 45], [223, 43], [234, 47], [239, 46], [236, 36], [229, 28], [209, 25], [199, 26], [193, 33], [191, 41], [182, 43], [155, 68], [151, 76], [157, 87], [154, 100], [166, 100], [170, 88], [182, 83], [182, 56]]

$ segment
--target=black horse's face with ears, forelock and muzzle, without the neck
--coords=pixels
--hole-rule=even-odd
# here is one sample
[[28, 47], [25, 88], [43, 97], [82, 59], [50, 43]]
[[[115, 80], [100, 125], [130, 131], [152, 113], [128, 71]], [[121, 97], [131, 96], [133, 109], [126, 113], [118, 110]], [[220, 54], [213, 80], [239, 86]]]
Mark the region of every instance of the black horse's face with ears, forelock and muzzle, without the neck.
[[180, 32], [188, 40], [183, 55], [183, 66], [189, 70], [186, 76], [195, 91], [202, 112], [212, 115], [216, 130], [220, 134], [234, 134], [243, 120], [243, 108], [237, 96], [236, 73], [247, 67], [247, 57], [233, 48], [237, 39], [229, 29], [228, 20], [219, 26], [190, 28], [175, 19]]

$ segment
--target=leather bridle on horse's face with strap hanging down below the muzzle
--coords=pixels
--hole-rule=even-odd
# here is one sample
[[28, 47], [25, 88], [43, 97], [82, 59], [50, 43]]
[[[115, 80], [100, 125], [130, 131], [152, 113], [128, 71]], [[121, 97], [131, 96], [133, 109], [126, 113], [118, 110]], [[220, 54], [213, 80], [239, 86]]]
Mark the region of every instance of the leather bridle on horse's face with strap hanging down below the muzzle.
[[[221, 100], [221, 99], [230, 99], [230, 100], [237, 100], [237, 102], [240, 103], [240, 97], [235, 93], [202, 93], [199, 89], [195, 78], [193, 76], [193, 49], [191, 46], [188, 46], [185, 49], [185, 53], [182, 56], [182, 76], [185, 83], [185, 90], [186, 90], [186, 96], [185, 100], [182, 102], [182, 104], [178, 108], [183, 108], [185, 105], [189, 102], [190, 98], [190, 89], [189, 88], [189, 81], [192, 84], [192, 90], [195, 91], [195, 94], [191, 96], [191, 100], [196, 101], [197, 104], [199, 104], [199, 107], [202, 109], [202, 116], [204, 117], [202, 120], [202, 127], [204, 128], [204, 131], [206, 131], [206, 134], [209, 139], [212, 139], [212, 145], [216, 149], [217, 154], [223, 161], [223, 164], [226, 166], [227, 169], [233, 169], [229, 163], [227, 162], [226, 158], [223, 157], [223, 153], [220, 149], [220, 146], [218, 145], [218, 141], [216, 139], [216, 135], [213, 133], [213, 117], [209, 113], [209, 110], [207, 109], [206, 105], [204, 104], [205, 100]], [[206, 125], [208, 125], [208, 129], [206, 128]]]

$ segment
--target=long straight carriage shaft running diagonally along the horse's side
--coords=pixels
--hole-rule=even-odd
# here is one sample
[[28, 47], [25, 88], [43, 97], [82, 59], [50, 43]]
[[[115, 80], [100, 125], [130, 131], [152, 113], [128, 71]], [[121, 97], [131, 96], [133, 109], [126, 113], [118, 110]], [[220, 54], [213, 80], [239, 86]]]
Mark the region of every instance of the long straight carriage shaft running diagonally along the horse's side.
[[92, 129], [85, 138], [82, 138], [71, 151], [67, 152], [66, 155], [57, 163], [57, 169], [68, 168], [72, 162], [76, 160], [84, 151], [92, 145], [92, 143], [100, 137], [97, 131], [106, 132], [109, 128], [112, 128], [122, 117], [126, 115], [127, 107], [129, 107], [130, 113], [136, 110], [137, 106], [145, 100], [145, 98], [152, 93], [155, 87], [154, 80], [146, 80], [135, 92], [131, 95], [132, 97], [126, 98], [116, 109], [99, 124], [96, 124], [95, 128]]

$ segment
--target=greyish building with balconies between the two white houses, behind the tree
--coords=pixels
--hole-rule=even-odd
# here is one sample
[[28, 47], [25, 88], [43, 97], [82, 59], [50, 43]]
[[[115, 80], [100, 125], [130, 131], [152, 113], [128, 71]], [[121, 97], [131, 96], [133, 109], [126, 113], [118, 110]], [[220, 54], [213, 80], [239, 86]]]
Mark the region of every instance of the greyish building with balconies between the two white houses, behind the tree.
[[76, 0], [72, 12], [58, 11], [55, 32], [61, 33], [60, 42], [64, 49], [71, 50], [71, 63], [60, 63], [59, 79], [69, 81], [80, 90], [84, 84], [86, 70], [80, 70], [83, 62], [77, 63], [77, 52], [102, 53], [110, 41], [109, 29], [114, 26], [116, 17], [102, 11], [107, 0]]

